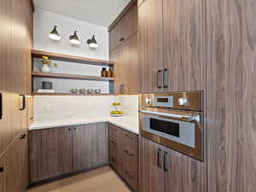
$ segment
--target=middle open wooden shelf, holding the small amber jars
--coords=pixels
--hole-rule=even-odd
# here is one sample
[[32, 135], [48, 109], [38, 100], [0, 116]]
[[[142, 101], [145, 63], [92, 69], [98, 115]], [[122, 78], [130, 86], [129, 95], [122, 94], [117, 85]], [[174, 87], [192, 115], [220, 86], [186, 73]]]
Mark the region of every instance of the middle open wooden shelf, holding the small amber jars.
[[80, 80], [95, 80], [95, 81], [113, 81], [113, 78], [103, 78], [100, 76], [89, 75], [75, 75], [75, 74], [63, 74], [63, 73], [41, 73], [32, 72], [33, 77], [41, 78], [53, 78], [53, 79], [80, 79]]

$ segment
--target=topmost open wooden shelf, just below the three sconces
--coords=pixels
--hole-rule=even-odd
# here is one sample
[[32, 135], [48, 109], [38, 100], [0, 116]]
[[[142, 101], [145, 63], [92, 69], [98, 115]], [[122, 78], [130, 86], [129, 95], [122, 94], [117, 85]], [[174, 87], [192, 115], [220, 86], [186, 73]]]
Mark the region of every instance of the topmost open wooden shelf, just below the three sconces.
[[43, 50], [35, 50], [32, 49], [32, 57], [42, 58], [43, 55], [48, 56], [49, 60], [58, 60], [58, 61], [69, 61], [69, 62], [77, 62], [77, 63], [84, 63], [90, 65], [98, 65], [98, 66], [113, 66], [113, 61], [104, 61], [98, 60], [88, 57], [81, 57], [81, 56], [73, 56], [73, 55], [64, 55], [58, 53], [47, 52]]

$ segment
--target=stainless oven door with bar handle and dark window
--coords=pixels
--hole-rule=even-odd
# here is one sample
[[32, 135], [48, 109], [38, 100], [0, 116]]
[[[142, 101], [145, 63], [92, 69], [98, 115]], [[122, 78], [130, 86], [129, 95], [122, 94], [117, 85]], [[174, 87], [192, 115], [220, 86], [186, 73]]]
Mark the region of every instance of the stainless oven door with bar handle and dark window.
[[201, 113], [160, 108], [144, 108], [139, 113], [143, 137], [203, 160]]

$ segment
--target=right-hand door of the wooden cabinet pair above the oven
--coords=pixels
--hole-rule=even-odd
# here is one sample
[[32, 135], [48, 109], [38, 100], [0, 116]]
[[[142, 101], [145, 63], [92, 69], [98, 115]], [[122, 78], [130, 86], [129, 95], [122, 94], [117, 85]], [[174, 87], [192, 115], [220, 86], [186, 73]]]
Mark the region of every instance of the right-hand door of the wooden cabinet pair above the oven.
[[163, 0], [166, 91], [205, 89], [204, 32], [202, 0]]

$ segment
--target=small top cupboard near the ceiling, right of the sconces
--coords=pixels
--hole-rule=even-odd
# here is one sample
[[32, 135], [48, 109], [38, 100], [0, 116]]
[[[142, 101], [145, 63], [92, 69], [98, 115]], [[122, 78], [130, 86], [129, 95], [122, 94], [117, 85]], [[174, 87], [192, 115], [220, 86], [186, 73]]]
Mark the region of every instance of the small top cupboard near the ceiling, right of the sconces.
[[134, 4], [109, 31], [109, 51], [137, 32], [137, 4]]

